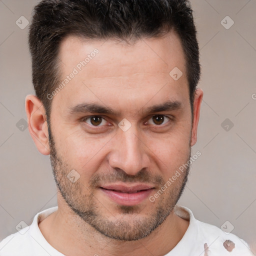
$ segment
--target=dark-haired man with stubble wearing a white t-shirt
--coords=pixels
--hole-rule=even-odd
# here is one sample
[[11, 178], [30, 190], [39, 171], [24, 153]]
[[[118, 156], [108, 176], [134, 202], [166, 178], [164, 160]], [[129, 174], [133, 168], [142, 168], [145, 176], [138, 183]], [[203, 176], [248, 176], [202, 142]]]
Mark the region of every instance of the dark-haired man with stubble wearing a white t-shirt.
[[29, 132], [58, 206], [0, 255], [252, 255], [176, 205], [203, 95], [186, 0], [43, 0], [29, 46]]

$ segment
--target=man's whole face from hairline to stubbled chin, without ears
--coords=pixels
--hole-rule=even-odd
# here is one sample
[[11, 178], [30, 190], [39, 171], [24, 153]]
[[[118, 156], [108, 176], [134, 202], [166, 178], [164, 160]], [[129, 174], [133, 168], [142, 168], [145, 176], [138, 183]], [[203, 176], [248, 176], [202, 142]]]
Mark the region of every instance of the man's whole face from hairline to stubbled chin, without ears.
[[[70, 36], [59, 58], [64, 85], [51, 93], [50, 114], [58, 189], [73, 214], [105, 236], [145, 237], [173, 210], [188, 174], [149, 199], [190, 157], [180, 41], [173, 32], [130, 45]], [[183, 73], [177, 80], [174, 67]]]

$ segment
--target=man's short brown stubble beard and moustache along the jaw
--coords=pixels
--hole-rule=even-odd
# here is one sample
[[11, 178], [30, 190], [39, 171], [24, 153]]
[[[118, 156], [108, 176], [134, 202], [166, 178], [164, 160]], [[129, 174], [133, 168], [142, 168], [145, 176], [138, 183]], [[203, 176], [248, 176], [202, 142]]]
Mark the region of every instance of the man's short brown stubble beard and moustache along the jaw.
[[[50, 162], [52, 166], [54, 180], [57, 185], [57, 189], [61, 193], [67, 205], [72, 211], [79, 216], [83, 221], [94, 227], [98, 232], [104, 236], [112, 239], [122, 241], [134, 241], [148, 236], [153, 230], [155, 230], [171, 213], [179, 197], [181, 196], [187, 177], [189, 174], [189, 165], [185, 171], [175, 180], [175, 184], [171, 184], [158, 198], [155, 203], [151, 205], [155, 206], [152, 212], [146, 214], [145, 217], [139, 216], [139, 212], [143, 210], [138, 205], [125, 206], [117, 205], [118, 214], [114, 220], [109, 220], [104, 216], [104, 206], [98, 202], [94, 197], [93, 191], [95, 185], [100, 180], [109, 181], [139, 181], [139, 182], [152, 182], [154, 181], [158, 187], [164, 185], [164, 180], [161, 176], [152, 176], [145, 170], [141, 170], [136, 176], [127, 175], [124, 171], [115, 172], [116, 175], [95, 175], [90, 180], [90, 185], [85, 187], [78, 179], [75, 183], [70, 182], [67, 178], [68, 172], [71, 170], [68, 168], [68, 164], [65, 163], [58, 155], [55, 148], [55, 142], [53, 137], [49, 139], [50, 145]], [[191, 148], [187, 161], [191, 155]], [[94, 189], [94, 190], [93, 190]], [[148, 203], [152, 203], [149, 202]], [[100, 209], [101, 207], [101, 209]], [[107, 211], [109, 214], [109, 211]], [[133, 215], [132, 218], [127, 219], [127, 215]], [[145, 215], [145, 214], [144, 214]], [[144, 216], [143, 215], [143, 216]]]

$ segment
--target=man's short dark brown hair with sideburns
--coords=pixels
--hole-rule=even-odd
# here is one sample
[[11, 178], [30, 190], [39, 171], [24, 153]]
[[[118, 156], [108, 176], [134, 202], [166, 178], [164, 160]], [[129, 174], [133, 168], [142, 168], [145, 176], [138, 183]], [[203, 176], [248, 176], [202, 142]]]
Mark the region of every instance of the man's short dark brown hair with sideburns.
[[67, 35], [120, 40], [160, 37], [170, 29], [179, 35], [185, 54], [192, 108], [200, 77], [199, 50], [188, 0], [42, 0], [29, 27], [32, 82], [49, 117], [47, 94], [60, 82], [59, 45]]

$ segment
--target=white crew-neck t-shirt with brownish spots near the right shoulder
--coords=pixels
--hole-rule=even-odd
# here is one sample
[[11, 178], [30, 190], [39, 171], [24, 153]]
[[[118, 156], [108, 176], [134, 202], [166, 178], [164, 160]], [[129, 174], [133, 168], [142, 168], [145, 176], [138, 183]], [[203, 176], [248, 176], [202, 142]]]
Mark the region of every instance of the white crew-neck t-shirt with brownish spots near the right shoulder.
[[[10, 234], [0, 242], [0, 256], [63, 256], [43, 237], [38, 222], [57, 210], [57, 206], [38, 212], [31, 225]], [[176, 205], [175, 214], [189, 220], [189, 226], [165, 256], [252, 256], [248, 244], [232, 233], [194, 218], [190, 209]], [[232, 249], [231, 249], [232, 248]], [[231, 250], [231, 251], [228, 251]]]

